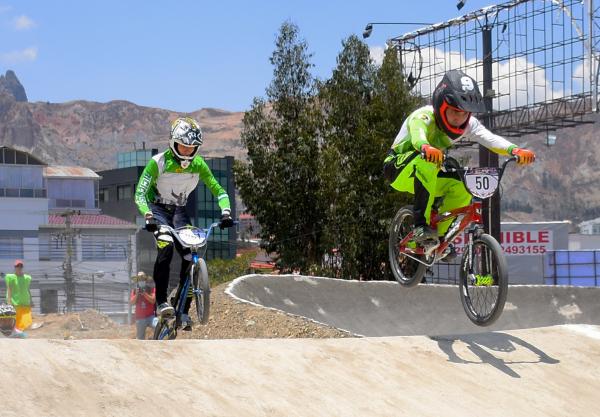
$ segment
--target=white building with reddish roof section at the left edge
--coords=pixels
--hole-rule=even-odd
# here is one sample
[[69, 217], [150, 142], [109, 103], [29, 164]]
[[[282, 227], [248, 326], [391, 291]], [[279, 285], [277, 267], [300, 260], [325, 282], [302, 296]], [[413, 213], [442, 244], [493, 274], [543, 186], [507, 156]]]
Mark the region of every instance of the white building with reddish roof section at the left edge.
[[[136, 272], [137, 226], [100, 213], [99, 181], [87, 168], [47, 166], [26, 152], [0, 147], [0, 274], [13, 272], [15, 259], [24, 260], [36, 312], [66, 307], [68, 258], [75, 309], [127, 308], [129, 274]], [[4, 290], [0, 285], [2, 295]]]

